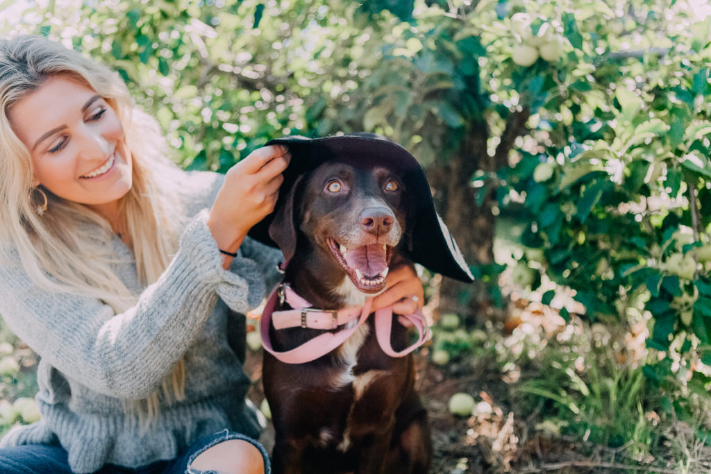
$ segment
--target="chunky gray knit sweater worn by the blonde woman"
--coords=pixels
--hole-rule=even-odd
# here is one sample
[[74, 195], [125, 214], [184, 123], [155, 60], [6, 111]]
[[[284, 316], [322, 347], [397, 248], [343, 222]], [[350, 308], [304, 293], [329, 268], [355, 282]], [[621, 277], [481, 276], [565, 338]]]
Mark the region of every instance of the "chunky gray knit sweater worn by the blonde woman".
[[[244, 316], [232, 311], [260, 303], [264, 276], [270, 270], [274, 276], [281, 254], [247, 238], [223, 270], [205, 225], [223, 176], [181, 172], [179, 179], [185, 181], [179, 199], [191, 220], [159, 281], [142, 287], [132, 252], [118, 237], [111, 242], [116, 274], [140, 295], [129, 311], [115, 314], [97, 299], [43, 291], [18, 257], [0, 266], [0, 315], [41, 357], [36, 399], [42, 415], [7, 433], [0, 447], [61, 443], [71, 468], [90, 473], [105, 463], [138, 467], [171, 459], [225, 428], [258, 436], [255, 411], [245, 405]], [[185, 399], [161, 399], [154, 427], [141, 433], [137, 419], [125, 414], [125, 400], [154, 392], [181, 357]]]

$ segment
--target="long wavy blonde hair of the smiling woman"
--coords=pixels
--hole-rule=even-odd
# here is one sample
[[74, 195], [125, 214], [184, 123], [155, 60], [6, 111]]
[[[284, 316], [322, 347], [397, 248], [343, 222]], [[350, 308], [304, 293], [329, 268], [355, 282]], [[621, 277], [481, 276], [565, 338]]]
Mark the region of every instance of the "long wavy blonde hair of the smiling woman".
[[[108, 244], [112, 228], [87, 206], [59, 198], [44, 188], [48, 210], [42, 216], [37, 214], [43, 197], [32, 186], [30, 153], [8, 118], [14, 104], [57, 75], [95, 90], [117, 112], [124, 126], [132, 153], [133, 184], [121, 198], [119, 208], [141, 283], [156, 281], [178, 247], [176, 229], [181, 215], [166, 200], [170, 192], [166, 186], [175, 180], [158, 179], [174, 173], [177, 167], [166, 158], [164, 139], [155, 120], [133, 106], [117, 73], [37, 36], [0, 41], [0, 242], [10, 244], [4, 250], [16, 249], [25, 271], [41, 288], [98, 298], [121, 313], [134, 306], [137, 298], [112, 271], [115, 257]], [[82, 231], [87, 226], [94, 232]], [[101, 232], [95, 232], [97, 227]], [[163, 396], [182, 399], [184, 386], [181, 360], [163, 382]], [[142, 421], [157, 416], [160, 392], [137, 404]]]

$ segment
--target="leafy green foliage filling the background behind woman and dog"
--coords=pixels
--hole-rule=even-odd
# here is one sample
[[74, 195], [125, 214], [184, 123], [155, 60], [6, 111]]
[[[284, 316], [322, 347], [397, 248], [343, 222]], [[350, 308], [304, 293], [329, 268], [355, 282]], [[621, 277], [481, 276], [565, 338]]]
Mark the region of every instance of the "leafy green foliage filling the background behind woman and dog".
[[[514, 63], [523, 12], [559, 58]], [[520, 284], [543, 303], [547, 282], [570, 288], [589, 321], [648, 320], [648, 380], [706, 394], [711, 17], [687, 2], [5, 1], [0, 31], [112, 65], [187, 168], [286, 134], [389, 136], [445, 220], [466, 216], [453, 231], [489, 304], [505, 262], [486, 229], [506, 216], [525, 227]]]

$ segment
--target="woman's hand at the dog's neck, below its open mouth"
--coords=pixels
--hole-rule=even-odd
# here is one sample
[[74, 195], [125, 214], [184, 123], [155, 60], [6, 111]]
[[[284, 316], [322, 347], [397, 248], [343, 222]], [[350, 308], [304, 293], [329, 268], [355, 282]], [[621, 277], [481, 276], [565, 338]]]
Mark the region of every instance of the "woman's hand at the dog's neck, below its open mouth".
[[386, 281], [387, 289], [375, 296], [371, 311], [392, 305], [392, 312], [395, 314], [412, 314], [422, 308], [422, 281], [411, 265], [399, 264], [390, 269]]

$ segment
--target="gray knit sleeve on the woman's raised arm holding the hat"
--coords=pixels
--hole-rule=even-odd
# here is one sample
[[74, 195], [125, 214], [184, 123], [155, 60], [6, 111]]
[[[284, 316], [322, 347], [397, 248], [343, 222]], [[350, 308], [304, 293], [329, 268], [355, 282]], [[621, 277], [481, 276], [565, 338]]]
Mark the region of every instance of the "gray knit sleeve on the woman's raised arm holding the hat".
[[242, 312], [263, 297], [254, 262], [223, 270], [207, 217], [203, 210], [191, 220], [164, 274], [124, 313], [95, 298], [45, 291], [16, 262], [0, 266], [0, 314], [67, 377], [109, 396], [147, 397], [201, 333], [218, 292]]

